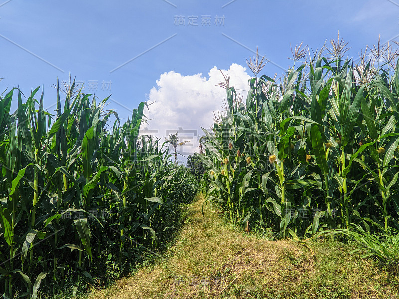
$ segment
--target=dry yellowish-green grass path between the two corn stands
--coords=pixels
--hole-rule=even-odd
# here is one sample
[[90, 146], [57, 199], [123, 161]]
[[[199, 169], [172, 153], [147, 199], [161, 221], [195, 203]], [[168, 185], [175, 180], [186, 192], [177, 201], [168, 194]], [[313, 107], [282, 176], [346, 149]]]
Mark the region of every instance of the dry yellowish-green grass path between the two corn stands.
[[399, 298], [398, 277], [334, 240], [311, 243], [246, 235], [207, 208], [188, 207], [182, 231], [162, 258], [89, 299]]

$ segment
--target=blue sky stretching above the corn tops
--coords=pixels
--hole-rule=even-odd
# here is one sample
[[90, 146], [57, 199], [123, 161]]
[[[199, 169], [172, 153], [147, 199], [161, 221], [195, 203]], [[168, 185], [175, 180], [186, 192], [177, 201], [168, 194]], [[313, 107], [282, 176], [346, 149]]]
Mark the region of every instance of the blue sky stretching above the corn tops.
[[[205, 15], [211, 21], [202, 26]], [[176, 26], [176, 16], [183, 16], [185, 25]], [[188, 25], [189, 16], [197, 17], [198, 26]], [[216, 25], [216, 16], [224, 23]], [[245, 67], [256, 47], [261, 55], [287, 68], [290, 43], [295, 46], [303, 41], [315, 49], [336, 39], [340, 30], [351, 47], [349, 55], [357, 57], [366, 45], [377, 43], [379, 34], [382, 42], [398, 40], [399, 35], [399, 0], [0, 0], [0, 17], [1, 92], [20, 86], [28, 93], [44, 85], [46, 107], [53, 112], [56, 94], [51, 86], [57, 77], [66, 80], [71, 72], [86, 82], [86, 92], [94, 91], [88, 90], [90, 85], [97, 86], [95, 94], [100, 98], [112, 94], [109, 108], [117, 109], [121, 118], [127, 118], [141, 101], [158, 101], [162, 74], [176, 80], [163, 77], [172, 83], [160, 103], [173, 109], [175, 101], [179, 103], [174, 94], [182, 96], [183, 90], [183, 96], [192, 96], [180, 101], [195, 110], [195, 102], [208, 91], [190, 84], [199, 78], [213, 82], [209, 72], [214, 67], [225, 71], [233, 64]], [[238, 85], [251, 75], [250, 70], [233, 69]], [[269, 76], [282, 72], [272, 63], [263, 69]], [[214, 76], [214, 80], [219, 78]], [[220, 94], [208, 93], [208, 97]], [[155, 116], [160, 117], [162, 109], [158, 110]], [[206, 127], [212, 121], [190, 120], [182, 126]], [[156, 127], [157, 121], [152, 122]], [[174, 130], [180, 124], [164, 126]]]

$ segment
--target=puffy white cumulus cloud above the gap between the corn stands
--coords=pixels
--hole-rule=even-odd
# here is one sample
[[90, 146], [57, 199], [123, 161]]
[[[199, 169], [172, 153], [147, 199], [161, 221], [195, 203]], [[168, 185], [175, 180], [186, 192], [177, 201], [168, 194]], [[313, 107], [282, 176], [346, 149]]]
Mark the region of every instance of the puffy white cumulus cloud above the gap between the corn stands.
[[[249, 90], [247, 69], [238, 64], [232, 64], [228, 70], [222, 70], [224, 75], [230, 75], [230, 86], [234, 85], [237, 93], [246, 95]], [[213, 112], [222, 110], [226, 91], [216, 86], [224, 78], [216, 67], [213, 67], [208, 77], [200, 74], [183, 76], [170, 71], [157, 80], [157, 86], [150, 90], [147, 103], [149, 111], [145, 115], [150, 120], [142, 125], [141, 134], [157, 136], [165, 141], [165, 137], [178, 131], [180, 141], [190, 140], [178, 151], [184, 156], [199, 152], [197, 135], [204, 135], [201, 127], [209, 128], [213, 121]], [[179, 156], [180, 160], [185, 160]]]

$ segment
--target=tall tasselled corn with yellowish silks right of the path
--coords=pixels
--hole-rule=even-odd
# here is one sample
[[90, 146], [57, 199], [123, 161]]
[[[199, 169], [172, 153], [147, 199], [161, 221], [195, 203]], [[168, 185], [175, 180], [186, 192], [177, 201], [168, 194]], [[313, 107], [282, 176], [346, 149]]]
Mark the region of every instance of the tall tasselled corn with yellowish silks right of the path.
[[207, 203], [282, 236], [398, 229], [399, 65], [306, 60], [280, 82], [255, 74], [246, 102], [220, 84], [226, 110], [199, 155]]

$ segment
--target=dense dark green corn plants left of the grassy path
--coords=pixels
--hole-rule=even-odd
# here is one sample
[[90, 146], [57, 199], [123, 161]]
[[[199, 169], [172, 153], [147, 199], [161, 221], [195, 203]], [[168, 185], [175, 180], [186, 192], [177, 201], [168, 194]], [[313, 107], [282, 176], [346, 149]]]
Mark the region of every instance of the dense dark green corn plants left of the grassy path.
[[[145, 103], [121, 124], [107, 100], [65, 91], [56, 114], [39, 88], [0, 96], [0, 292], [74, 293], [131, 270], [173, 229], [196, 186], [168, 146], [140, 136]], [[17, 110], [10, 112], [17, 101]], [[110, 117], [115, 122], [110, 123]]]

